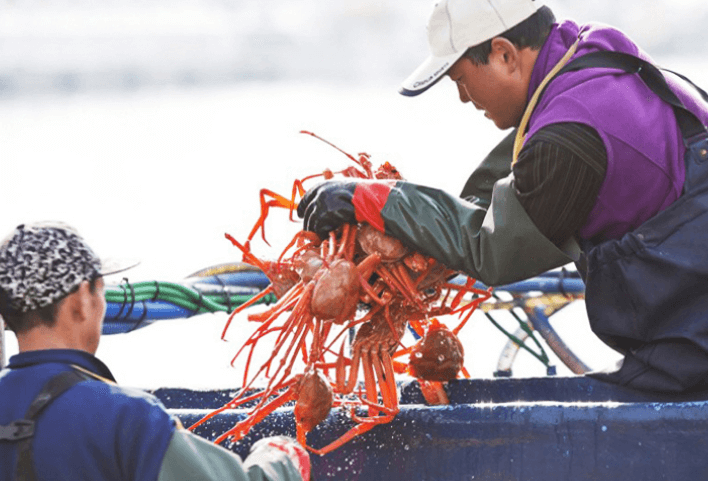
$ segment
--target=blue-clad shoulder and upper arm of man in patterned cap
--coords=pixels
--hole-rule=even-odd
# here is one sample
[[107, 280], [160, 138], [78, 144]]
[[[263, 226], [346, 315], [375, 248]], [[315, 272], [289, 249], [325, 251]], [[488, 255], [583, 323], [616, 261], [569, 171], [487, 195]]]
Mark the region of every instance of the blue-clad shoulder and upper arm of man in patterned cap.
[[157, 479], [175, 429], [154, 396], [91, 378], [47, 406], [35, 444], [57, 469], [65, 466], [57, 460], [67, 459], [82, 469], [129, 473], [125, 479]]

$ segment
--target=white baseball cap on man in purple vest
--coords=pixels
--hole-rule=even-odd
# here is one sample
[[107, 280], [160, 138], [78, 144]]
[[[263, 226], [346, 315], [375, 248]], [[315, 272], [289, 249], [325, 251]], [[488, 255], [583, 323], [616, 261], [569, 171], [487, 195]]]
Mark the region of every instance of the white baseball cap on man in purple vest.
[[440, 0], [428, 21], [431, 55], [402, 84], [413, 97], [435, 85], [468, 48], [523, 22], [543, 0]]

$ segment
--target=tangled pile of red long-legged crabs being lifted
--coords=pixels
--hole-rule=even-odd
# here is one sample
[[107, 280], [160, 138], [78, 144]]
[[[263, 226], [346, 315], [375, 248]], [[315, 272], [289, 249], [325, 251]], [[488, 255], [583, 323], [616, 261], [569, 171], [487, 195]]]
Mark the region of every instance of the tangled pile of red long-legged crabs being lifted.
[[[358, 159], [345, 155], [359, 168], [320, 175], [400, 179], [388, 163], [374, 171], [367, 154]], [[275, 409], [294, 402], [298, 441], [311, 452], [325, 454], [396, 416], [397, 373], [415, 377], [431, 404], [447, 403], [443, 382], [467, 375], [457, 333], [490, 296], [489, 291], [474, 289], [473, 279], [464, 285], [449, 283], [456, 272], [368, 224], [344, 225], [324, 240], [300, 231], [276, 261], [251, 252], [250, 242], [263, 229], [268, 209], [288, 208], [292, 219], [296, 196], [302, 196], [303, 182], [312, 177], [294, 183], [291, 199], [261, 191], [261, 217], [244, 244], [226, 234], [243, 253], [243, 261], [263, 270], [271, 285], [231, 314], [224, 334], [235, 316], [258, 299], [273, 293], [278, 301], [248, 315], [256, 327], [234, 357], [235, 362], [244, 353], [248, 356], [238, 394], [190, 428], [255, 401], [248, 416], [216, 443], [238, 441]], [[452, 330], [437, 319], [451, 314], [460, 319]], [[407, 328], [420, 338], [409, 347], [402, 344]], [[350, 345], [352, 330], [356, 335]], [[251, 372], [257, 348], [271, 354]], [[262, 378], [267, 385], [254, 394], [254, 382]], [[308, 446], [306, 434], [333, 407], [349, 409], [352, 428], [327, 446]]]

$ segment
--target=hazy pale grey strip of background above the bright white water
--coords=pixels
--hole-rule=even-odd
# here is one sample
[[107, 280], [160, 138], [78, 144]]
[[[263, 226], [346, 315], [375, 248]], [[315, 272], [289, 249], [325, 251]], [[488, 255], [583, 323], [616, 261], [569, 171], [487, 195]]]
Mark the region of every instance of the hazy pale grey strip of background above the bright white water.
[[[699, 54], [700, 0], [549, 2], [656, 57]], [[426, 51], [431, 0], [2, 0], [0, 95], [242, 82], [381, 85]]]

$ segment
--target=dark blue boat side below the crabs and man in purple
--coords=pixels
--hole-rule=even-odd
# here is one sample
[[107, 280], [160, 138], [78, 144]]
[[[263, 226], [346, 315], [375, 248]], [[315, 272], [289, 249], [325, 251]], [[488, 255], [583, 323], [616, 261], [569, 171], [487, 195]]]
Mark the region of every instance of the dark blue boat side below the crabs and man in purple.
[[[415, 382], [401, 385], [401, 411], [326, 456], [314, 479], [585, 480], [708, 479], [708, 393], [650, 395], [586, 377], [462, 380], [452, 404], [425, 406]], [[225, 391], [155, 392], [189, 426], [229, 400]], [[221, 414], [195, 431], [213, 439], [246, 415]], [[308, 436], [328, 444], [353, 423], [335, 410]], [[242, 441], [293, 435], [292, 409], [278, 410]]]

